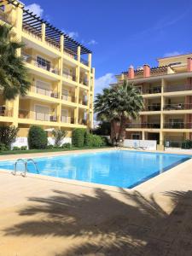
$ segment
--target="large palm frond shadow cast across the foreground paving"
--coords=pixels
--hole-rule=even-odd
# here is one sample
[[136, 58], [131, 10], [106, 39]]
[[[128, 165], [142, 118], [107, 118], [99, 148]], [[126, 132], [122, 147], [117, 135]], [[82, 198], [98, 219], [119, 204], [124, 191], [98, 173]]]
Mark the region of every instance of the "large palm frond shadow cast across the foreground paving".
[[82, 238], [56, 256], [192, 255], [192, 191], [166, 193], [174, 205], [171, 214], [153, 195], [119, 191], [121, 200], [102, 189], [94, 196], [54, 190], [48, 198], [29, 198], [31, 206], [19, 214], [34, 219], [4, 230], [5, 236], [63, 236], [63, 243], [66, 237]]

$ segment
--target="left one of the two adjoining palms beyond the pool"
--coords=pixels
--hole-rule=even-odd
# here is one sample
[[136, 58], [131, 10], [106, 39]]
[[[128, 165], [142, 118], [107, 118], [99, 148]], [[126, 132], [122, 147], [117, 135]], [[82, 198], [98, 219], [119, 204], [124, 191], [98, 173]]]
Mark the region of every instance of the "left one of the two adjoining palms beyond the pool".
[[105, 88], [102, 93], [96, 95], [94, 109], [97, 113], [97, 119], [111, 124], [111, 140], [116, 140], [115, 123], [119, 121], [116, 106], [114, 106], [114, 96], [112, 88]]

